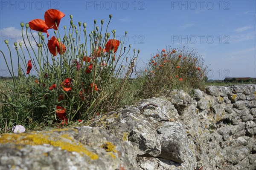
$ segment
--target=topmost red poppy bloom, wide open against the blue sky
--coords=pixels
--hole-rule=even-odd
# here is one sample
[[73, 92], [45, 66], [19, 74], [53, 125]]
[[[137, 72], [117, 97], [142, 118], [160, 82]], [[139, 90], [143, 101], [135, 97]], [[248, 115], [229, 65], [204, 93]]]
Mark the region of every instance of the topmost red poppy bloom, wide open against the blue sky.
[[[49, 9], [44, 13], [45, 24], [53, 29], [57, 30], [61, 22], [61, 18], [65, 17], [65, 14], [56, 9]], [[57, 26], [56, 26], [57, 25]]]

